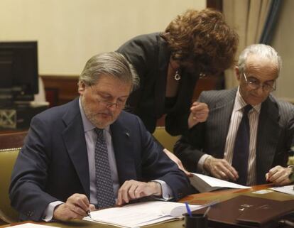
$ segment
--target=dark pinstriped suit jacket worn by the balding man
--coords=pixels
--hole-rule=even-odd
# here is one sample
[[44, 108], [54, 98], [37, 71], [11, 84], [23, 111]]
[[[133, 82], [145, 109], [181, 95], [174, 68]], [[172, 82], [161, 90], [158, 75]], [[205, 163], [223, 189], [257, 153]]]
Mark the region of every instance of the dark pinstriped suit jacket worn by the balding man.
[[[185, 167], [196, 172], [197, 162], [204, 154], [224, 157], [224, 146], [229, 131], [236, 89], [206, 91], [200, 102], [207, 103], [209, 116], [205, 123], [197, 124], [175, 145], [175, 154]], [[288, 151], [293, 145], [294, 109], [270, 95], [261, 104], [256, 139], [257, 183], [266, 183], [265, 175], [276, 165], [286, 165]]]

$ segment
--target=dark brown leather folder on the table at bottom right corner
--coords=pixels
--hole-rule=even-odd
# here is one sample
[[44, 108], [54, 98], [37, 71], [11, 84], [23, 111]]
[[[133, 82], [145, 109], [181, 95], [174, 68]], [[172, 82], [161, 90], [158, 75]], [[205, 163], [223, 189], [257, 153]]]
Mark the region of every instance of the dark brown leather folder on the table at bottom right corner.
[[[239, 195], [213, 205], [208, 212], [209, 227], [279, 227], [278, 220], [294, 211], [294, 200], [278, 201]], [[193, 213], [203, 213], [205, 209]]]

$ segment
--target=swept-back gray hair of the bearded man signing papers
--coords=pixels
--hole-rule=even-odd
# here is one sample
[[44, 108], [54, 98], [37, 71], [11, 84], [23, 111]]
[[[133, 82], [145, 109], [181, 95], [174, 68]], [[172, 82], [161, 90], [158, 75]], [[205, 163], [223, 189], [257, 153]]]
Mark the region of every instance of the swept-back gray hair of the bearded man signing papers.
[[79, 83], [94, 85], [101, 75], [109, 75], [119, 80], [130, 83], [132, 89], [139, 85], [139, 77], [133, 65], [126, 60], [124, 55], [116, 52], [102, 53], [90, 58], [79, 77]]

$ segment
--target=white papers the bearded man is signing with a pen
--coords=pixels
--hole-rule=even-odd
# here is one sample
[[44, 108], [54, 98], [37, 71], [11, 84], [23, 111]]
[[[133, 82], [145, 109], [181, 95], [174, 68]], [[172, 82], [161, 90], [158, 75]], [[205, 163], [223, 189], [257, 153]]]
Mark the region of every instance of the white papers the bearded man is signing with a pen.
[[[197, 210], [202, 207], [202, 205], [190, 205], [191, 210]], [[84, 219], [117, 227], [134, 228], [181, 219], [186, 212], [184, 203], [151, 201], [98, 210], [91, 212], [92, 219], [89, 217]]]

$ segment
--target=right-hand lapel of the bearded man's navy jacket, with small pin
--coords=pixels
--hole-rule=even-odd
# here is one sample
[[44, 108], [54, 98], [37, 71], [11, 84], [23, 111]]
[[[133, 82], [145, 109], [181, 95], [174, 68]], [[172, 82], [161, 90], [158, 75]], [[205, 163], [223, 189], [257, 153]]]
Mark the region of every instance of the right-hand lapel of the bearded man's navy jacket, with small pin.
[[132, 146], [133, 132], [124, 127], [122, 122], [119, 118], [110, 126], [120, 185], [126, 180], [137, 179]]

